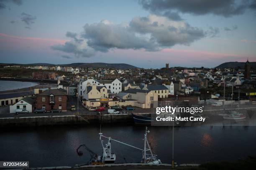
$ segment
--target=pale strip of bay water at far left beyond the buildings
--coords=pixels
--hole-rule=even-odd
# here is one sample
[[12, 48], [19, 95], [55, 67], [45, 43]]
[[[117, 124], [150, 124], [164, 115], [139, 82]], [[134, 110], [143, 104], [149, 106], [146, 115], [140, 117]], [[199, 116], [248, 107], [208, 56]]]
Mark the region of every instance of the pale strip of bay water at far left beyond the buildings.
[[0, 91], [16, 90], [26, 87], [33, 87], [38, 85], [36, 82], [20, 82], [20, 81], [5, 81], [0, 80]]

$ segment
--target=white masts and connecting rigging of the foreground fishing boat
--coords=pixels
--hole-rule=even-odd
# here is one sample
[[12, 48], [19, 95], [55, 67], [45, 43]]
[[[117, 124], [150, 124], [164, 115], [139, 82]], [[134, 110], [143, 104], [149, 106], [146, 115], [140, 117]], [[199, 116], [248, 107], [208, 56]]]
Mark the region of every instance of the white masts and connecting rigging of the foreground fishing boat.
[[[118, 143], [121, 143], [123, 145], [127, 145], [127, 146], [130, 146], [132, 148], [135, 148], [135, 149], [138, 149], [138, 150], [141, 150], [143, 151], [142, 153], [142, 160], [141, 160], [141, 163], [149, 163], [149, 164], [160, 164], [161, 163], [161, 160], [157, 159], [156, 156], [157, 155], [154, 155], [150, 149], [150, 145], [148, 143], [148, 139], [147, 139], [147, 134], [149, 133], [149, 130], [148, 128], [146, 127], [146, 132], [144, 134], [144, 149], [141, 149], [141, 148], [137, 148], [133, 145], [129, 145], [127, 143], [123, 143], [119, 140], [115, 140], [111, 137], [106, 137], [104, 136], [102, 133], [99, 133], [100, 135], [100, 141], [101, 141], [101, 144], [102, 144], [102, 148], [103, 148], [103, 158], [105, 157], [108, 157], [108, 156], [111, 156], [111, 157], [114, 157], [115, 158], [115, 154], [111, 153], [111, 144], [110, 144], [110, 140], [113, 140], [115, 142], [118, 142]], [[107, 138], [108, 139], [108, 144], [106, 144], [107, 148], [104, 148], [103, 146], [103, 140], [102, 138]], [[148, 151], [150, 153], [148, 153]]]

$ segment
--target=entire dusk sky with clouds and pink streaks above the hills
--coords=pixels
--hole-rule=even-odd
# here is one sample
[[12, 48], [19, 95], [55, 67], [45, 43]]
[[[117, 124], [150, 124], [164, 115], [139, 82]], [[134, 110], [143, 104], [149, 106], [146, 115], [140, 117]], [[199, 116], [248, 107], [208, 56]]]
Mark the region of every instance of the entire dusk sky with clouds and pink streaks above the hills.
[[256, 62], [256, 0], [0, 0], [0, 62]]

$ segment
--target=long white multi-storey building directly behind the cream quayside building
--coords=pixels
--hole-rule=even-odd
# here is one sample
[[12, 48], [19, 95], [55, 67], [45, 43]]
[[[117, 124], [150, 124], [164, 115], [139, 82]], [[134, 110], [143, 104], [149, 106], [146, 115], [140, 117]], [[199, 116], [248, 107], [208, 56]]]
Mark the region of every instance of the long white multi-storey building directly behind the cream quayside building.
[[118, 94], [122, 91], [122, 82], [120, 80], [94, 80], [93, 77], [88, 77], [87, 80], [79, 82], [79, 97], [85, 98], [85, 89], [87, 86], [92, 86], [95, 84], [96, 86], [106, 86], [111, 93]]

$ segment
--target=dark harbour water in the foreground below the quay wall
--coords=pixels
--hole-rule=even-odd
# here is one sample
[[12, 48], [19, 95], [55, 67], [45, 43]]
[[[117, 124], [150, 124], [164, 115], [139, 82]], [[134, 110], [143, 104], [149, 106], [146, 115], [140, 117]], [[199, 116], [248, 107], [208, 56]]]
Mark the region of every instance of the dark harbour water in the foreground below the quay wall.
[[[148, 127], [148, 141], [162, 163], [172, 161], [172, 127]], [[113, 139], [143, 148], [144, 126], [102, 125], [102, 133]], [[90, 154], [82, 150], [87, 145], [102, 155], [100, 125], [47, 126], [2, 129], [0, 131], [0, 160], [30, 161], [30, 167], [74, 166], [87, 163]], [[256, 126], [175, 127], [174, 160], [182, 163], [230, 161], [256, 155]], [[107, 140], [104, 140], [106, 143]], [[140, 150], [111, 142], [116, 163], [140, 162]]]

